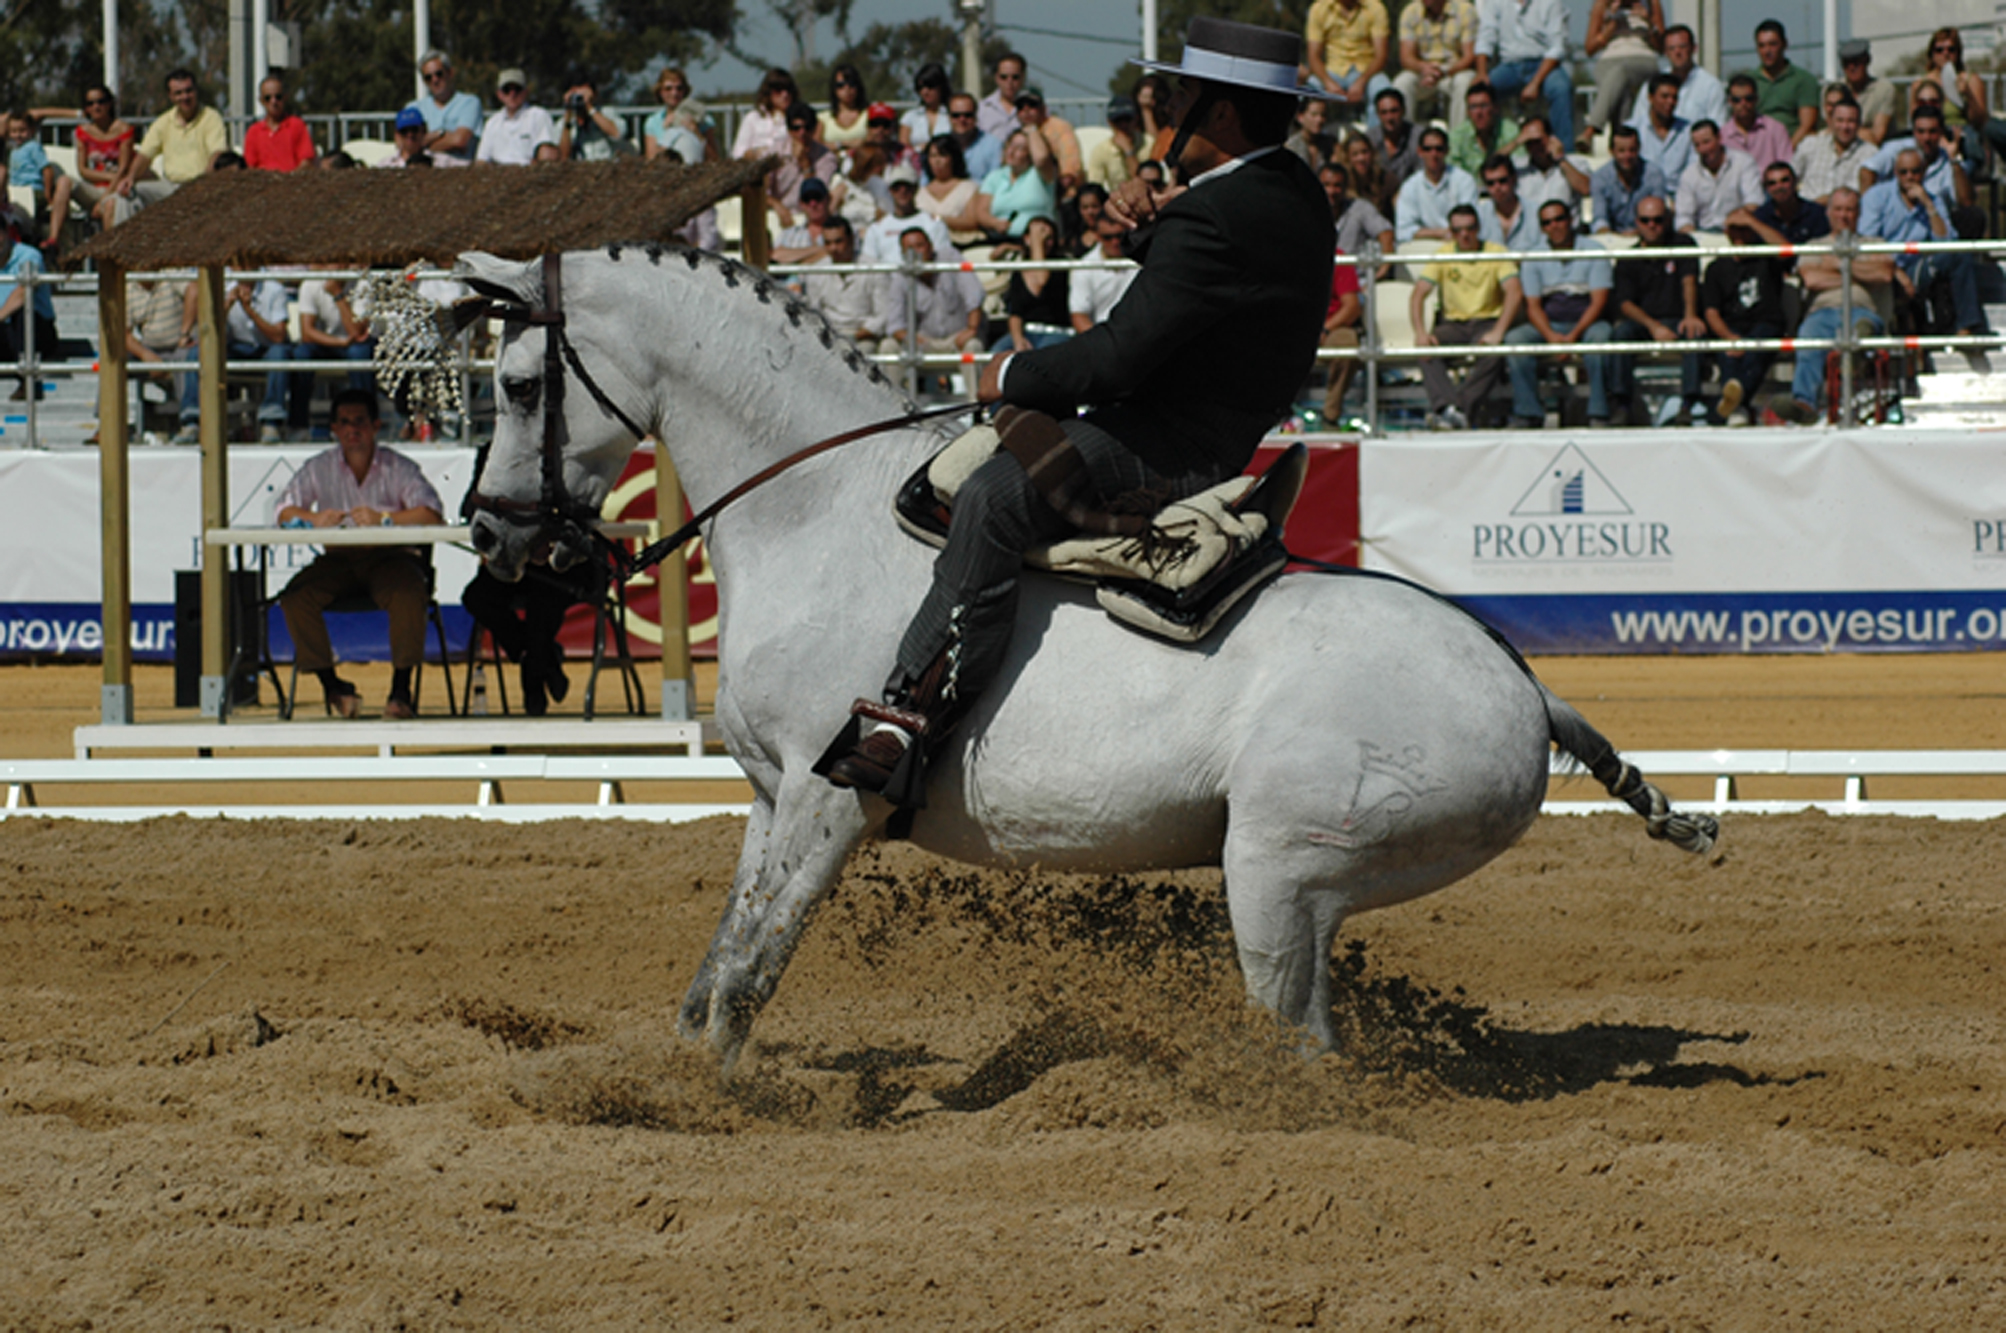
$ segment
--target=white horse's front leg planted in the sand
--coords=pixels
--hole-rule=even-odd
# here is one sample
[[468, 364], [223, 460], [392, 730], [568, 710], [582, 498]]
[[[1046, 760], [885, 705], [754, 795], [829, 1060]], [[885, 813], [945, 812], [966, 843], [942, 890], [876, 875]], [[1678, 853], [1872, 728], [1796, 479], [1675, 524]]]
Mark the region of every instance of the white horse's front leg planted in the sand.
[[740, 864], [732, 904], [698, 970], [704, 992], [698, 994], [698, 986], [692, 986], [682, 1004], [682, 1030], [692, 1036], [702, 1030], [726, 1070], [738, 1058], [752, 1020], [778, 988], [802, 928], [867, 830], [869, 818], [859, 796], [800, 768], [780, 782], [764, 846], [754, 848], [752, 838], [746, 838], [744, 858], [758, 854], [758, 866], [748, 876], [744, 862]]

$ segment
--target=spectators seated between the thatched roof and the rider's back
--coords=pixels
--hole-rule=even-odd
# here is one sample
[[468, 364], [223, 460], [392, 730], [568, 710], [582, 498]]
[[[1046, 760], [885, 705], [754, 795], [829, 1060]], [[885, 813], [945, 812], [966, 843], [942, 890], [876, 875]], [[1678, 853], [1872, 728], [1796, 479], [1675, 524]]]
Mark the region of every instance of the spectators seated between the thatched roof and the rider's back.
[[[839, 66], [830, 108], [800, 112], [800, 146], [790, 160], [814, 160], [818, 180], [806, 180], [800, 192], [808, 223], [782, 227], [772, 259], [810, 265], [796, 275], [796, 287], [867, 351], [973, 355], [1047, 347], [1105, 321], [1133, 277], [1133, 267], [1121, 263], [1127, 233], [1105, 216], [1105, 202], [1123, 180], [1161, 180], [1161, 162], [1149, 158], [1167, 128], [1159, 116], [1169, 98], [1159, 80], [1145, 78], [1135, 96], [1111, 98], [1105, 134], [1083, 152], [1075, 126], [1027, 82], [1023, 56], [1001, 56], [991, 74], [991, 90], [977, 98], [927, 64], [913, 80], [919, 104], [899, 116], [869, 100], [855, 68]], [[768, 100], [802, 106], [784, 70], [770, 70], [762, 88], [774, 94]], [[820, 126], [814, 146], [806, 146], [806, 118]], [[740, 140], [740, 156], [762, 152], [762, 140], [746, 130]], [[786, 172], [776, 172], [772, 190], [782, 223]], [[987, 281], [965, 271], [816, 271], [853, 261], [969, 259], [1031, 267], [991, 271]], [[1047, 269], [1041, 261], [1091, 267]]]

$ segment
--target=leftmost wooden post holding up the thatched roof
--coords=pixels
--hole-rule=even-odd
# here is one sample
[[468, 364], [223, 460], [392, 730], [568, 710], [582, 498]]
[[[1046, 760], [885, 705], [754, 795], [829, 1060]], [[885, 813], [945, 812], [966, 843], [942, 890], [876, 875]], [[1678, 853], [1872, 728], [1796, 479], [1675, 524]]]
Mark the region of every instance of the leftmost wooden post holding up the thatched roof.
[[98, 718], [132, 722], [132, 483], [126, 455], [124, 271], [98, 263], [98, 567], [102, 577], [104, 684]]

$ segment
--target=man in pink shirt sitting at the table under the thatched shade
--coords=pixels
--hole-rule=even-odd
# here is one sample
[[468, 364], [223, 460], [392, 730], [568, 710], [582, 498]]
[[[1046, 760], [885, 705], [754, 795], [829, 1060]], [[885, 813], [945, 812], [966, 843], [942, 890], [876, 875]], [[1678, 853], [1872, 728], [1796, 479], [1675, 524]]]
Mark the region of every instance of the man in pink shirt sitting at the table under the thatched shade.
[[[369, 389], [341, 389], [333, 401], [335, 447], [307, 459], [279, 495], [281, 527], [411, 527], [439, 523], [439, 493], [395, 449], [377, 449], [377, 403]], [[293, 659], [327, 692], [327, 710], [361, 712], [355, 686], [335, 676], [325, 611], [337, 599], [369, 593], [389, 611], [389, 700], [385, 718], [413, 718], [411, 672], [425, 655], [425, 565], [401, 545], [329, 547], [279, 593]]]

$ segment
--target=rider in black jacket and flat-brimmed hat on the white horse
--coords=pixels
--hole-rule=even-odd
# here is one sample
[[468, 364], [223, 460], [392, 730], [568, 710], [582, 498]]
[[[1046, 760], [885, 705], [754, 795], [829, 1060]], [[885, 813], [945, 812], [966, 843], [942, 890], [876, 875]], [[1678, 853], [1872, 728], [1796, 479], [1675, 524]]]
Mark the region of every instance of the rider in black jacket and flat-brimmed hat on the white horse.
[[[923, 804], [923, 758], [995, 678], [1023, 551], [1071, 531], [1133, 535], [1161, 505], [1238, 475], [1308, 377], [1330, 293], [1330, 204], [1282, 140], [1302, 36], [1194, 18], [1167, 158], [1184, 186], [1123, 182], [1141, 273], [1091, 331], [1007, 353], [979, 399], [1001, 451], [955, 495], [933, 587], [899, 645], [887, 704], [859, 700], [816, 766], [837, 786]], [[1087, 405], [1085, 415], [1075, 415]], [[917, 742], [917, 744], [915, 744]]]

